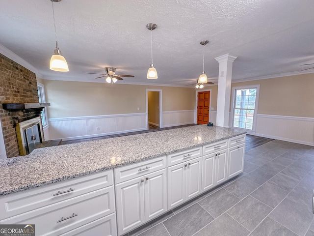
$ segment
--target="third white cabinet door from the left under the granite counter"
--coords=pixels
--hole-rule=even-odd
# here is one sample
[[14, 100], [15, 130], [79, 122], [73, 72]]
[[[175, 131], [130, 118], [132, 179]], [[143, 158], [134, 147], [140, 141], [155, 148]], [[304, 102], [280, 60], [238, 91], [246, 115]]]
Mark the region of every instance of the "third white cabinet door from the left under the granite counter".
[[168, 210], [185, 202], [186, 163], [181, 163], [167, 169]]

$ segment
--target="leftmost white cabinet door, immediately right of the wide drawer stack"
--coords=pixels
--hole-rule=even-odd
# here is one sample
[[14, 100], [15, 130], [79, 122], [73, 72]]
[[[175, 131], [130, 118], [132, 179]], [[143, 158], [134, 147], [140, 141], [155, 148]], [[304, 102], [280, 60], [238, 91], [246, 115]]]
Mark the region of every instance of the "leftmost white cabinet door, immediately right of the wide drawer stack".
[[138, 177], [116, 185], [118, 233], [135, 229], [145, 222], [144, 177]]

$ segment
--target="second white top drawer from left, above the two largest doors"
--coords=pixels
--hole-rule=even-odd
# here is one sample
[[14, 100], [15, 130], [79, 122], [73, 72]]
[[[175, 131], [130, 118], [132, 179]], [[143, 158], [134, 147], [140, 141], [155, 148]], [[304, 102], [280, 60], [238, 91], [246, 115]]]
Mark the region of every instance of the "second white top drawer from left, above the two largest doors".
[[147, 175], [166, 167], [166, 156], [159, 156], [153, 159], [117, 167], [114, 169], [115, 183], [117, 184], [132, 178]]

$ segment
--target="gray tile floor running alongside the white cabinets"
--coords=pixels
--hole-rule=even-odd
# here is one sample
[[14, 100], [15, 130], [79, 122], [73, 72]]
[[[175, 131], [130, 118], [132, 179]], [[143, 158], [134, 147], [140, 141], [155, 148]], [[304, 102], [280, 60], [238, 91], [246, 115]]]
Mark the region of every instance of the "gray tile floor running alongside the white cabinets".
[[126, 236], [314, 236], [314, 147], [247, 135], [244, 173]]

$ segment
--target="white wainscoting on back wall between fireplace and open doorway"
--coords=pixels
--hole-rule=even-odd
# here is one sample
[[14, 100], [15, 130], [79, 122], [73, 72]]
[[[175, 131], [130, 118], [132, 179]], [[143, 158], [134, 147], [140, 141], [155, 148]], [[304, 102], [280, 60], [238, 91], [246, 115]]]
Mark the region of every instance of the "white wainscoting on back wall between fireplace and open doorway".
[[146, 113], [51, 118], [45, 138], [73, 140], [147, 129]]

